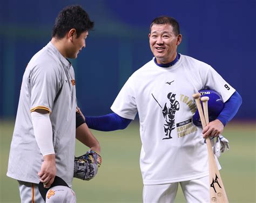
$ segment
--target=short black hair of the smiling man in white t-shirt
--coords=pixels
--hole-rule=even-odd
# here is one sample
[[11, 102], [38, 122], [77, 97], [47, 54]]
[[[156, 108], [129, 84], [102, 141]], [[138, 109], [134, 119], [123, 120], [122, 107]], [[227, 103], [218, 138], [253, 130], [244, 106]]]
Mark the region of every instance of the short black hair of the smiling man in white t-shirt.
[[180, 34], [179, 32], [179, 23], [176, 19], [169, 17], [169, 16], [159, 16], [155, 19], [153, 19], [151, 25], [150, 25], [150, 33], [151, 33], [151, 27], [154, 25], [165, 25], [165, 24], [169, 24], [173, 27], [173, 32], [176, 36], [178, 36]]

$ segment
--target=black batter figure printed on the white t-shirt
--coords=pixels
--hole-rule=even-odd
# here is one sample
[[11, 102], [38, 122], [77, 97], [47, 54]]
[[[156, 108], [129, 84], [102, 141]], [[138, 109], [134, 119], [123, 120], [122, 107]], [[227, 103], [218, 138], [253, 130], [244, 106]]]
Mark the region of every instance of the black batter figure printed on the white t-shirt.
[[[154, 95], [153, 94], [151, 95], [153, 96], [154, 100], [156, 100]], [[176, 100], [175, 96], [176, 94], [173, 94], [171, 92], [167, 94], [167, 98], [169, 99], [169, 102], [165, 103], [164, 108], [161, 107], [161, 105], [156, 100], [158, 105], [161, 107], [163, 116], [165, 118], [164, 132], [165, 132], [165, 136], [167, 137], [164, 137], [163, 139], [171, 139], [172, 138], [171, 132], [173, 129], [175, 129], [174, 117], [175, 117], [176, 111], [179, 110], [179, 102]]]

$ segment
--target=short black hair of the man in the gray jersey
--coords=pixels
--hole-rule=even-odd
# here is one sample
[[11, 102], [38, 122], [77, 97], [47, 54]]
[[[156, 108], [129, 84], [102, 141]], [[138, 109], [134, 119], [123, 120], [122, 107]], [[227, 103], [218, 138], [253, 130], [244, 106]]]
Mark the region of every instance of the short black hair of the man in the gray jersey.
[[79, 5], [70, 5], [59, 12], [52, 29], [52, 37], [62, 39], [71, 29], [76, 29], [77, 37], [81, 33], [92, 30], [94, 22]]

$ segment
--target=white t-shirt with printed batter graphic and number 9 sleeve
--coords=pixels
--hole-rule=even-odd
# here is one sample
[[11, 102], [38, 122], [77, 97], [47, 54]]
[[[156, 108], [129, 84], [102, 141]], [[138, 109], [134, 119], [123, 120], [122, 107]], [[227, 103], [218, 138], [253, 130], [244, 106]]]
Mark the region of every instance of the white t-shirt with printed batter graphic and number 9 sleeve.
[[224, 102], [235, 92], [211, 66], [181, 55], [169, 68], [149, 61], [120, 90], [111, 109], [132, 120], [139, 114], [144, 185], [207, 176], [202, 129], [192, 123], [197, 110], [192, 95], [206, 88], [217, 91]]

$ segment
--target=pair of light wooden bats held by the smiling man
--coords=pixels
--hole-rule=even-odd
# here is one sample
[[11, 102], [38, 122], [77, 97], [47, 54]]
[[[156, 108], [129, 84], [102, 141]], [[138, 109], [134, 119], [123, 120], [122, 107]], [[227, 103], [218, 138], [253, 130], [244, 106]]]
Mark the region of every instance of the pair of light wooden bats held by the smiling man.
[[[193, 98], [196, 100], [198, 113], [204, 128], [209, 123], [208, 106], [207, 106], [209, 97], [207, 96], [201, 97], [201, 101], [203, 102], [203, 108], [204, 108], [204, 112], [203, 112], [203, 109], [201, 107], [201, 102], [200, 102], [200, 96], [201, 96], [200, 93], [194, 94]], [[220, 172], [214, 158], [210, 138], [207, 137], [205, 141], [206, 141], [207, 151], [208, 151], [210, 202], [228, 203], [227, 194], [223, 185], [223, 181], [220, 177]]]

